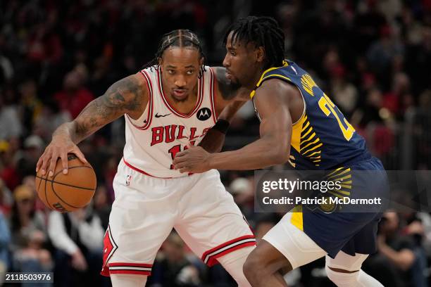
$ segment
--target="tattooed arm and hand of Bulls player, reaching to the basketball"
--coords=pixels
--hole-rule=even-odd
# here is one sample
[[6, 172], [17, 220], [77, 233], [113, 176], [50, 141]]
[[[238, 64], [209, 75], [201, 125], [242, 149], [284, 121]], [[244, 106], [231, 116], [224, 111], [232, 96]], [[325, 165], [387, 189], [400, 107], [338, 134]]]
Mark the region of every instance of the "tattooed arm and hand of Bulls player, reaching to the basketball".
[[68, 153], [75, 153], [82, 162], [86, 162], [77, 147], [80, 141], [124, 114], [138, 118], [148, 101], [146, 84], [140, 77], [142, 76], [137, 74], [130, 75], [115, 82], [103, 96], [91, 101], [75, 120], [59, 126], [52, 135], [51, 143], [39, 158], [36, 172], [41, 170], [42, 175], [49, 172], [51, 177], [58, 158], [61, 158], [63, 173], [67, 173]]

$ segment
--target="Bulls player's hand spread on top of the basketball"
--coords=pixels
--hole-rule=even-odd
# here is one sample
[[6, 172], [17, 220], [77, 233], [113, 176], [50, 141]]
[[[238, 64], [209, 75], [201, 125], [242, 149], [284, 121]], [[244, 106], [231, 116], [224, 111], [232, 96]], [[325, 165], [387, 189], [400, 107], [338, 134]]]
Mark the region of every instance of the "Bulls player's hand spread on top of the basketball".
[[40, 156], [36, 165], [36, 172], [41, 171], [42, 175], [48, 172], [48, 176], [52, 177], [56, 170], [58, 158], [61, 158], [63, 165], [63, 174], [68, 173], [68, 153], [74, 153], [82, 162], [87, 163], [84, 154], [80, 151], [72, 140], [64, 136], [53, 136], [49, 146], [46, 146], [44, 153]]

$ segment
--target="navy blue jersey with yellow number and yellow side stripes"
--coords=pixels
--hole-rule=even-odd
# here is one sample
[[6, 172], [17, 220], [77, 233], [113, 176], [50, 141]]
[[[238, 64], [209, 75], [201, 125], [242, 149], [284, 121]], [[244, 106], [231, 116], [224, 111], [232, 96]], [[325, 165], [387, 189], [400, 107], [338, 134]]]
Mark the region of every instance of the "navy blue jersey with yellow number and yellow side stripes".
[[287, 61], [283, 67], [266, 70], [256, 89], [267, 79], [282, 79], [294, 84], [304, 98], [304, 113], [292, 126], [289, 162], [294, 168], [331, 170], [370, 157], [363, 137], [296, 63]]

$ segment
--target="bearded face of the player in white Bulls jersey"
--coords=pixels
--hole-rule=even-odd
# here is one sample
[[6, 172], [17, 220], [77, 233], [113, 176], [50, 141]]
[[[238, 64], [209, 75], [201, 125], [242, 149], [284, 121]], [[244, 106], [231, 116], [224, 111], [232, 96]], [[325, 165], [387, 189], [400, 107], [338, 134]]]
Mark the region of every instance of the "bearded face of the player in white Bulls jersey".
[[203, 59], [197, 49], [173, 47], [161, 58], [163, 88], [175, 101], [186, 101], [197, 86]]

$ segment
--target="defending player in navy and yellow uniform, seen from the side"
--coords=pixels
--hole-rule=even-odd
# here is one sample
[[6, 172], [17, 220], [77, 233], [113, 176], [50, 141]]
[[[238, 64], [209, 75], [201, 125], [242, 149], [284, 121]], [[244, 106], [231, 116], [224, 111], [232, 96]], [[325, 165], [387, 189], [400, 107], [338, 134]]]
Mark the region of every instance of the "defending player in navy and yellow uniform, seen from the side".
[[[180, 172], [254, 170], [289, 161], [297, 170], [349, 177], [338, 196], [360, 192], [358, 187], [361, 191], [375, 191], [377, 184], [385, 187], [380, 160], [368, 153], [364, 139], [312, 77], [285, 60], [284, 39], [272, 18], [250, 16], [229, 28], [223, 65], [228, 79], [252, 90], [261, 138], [223, 153], [189, 148], [177, 153], [175, 168]], [[353, 170], [371, 170], [380, 176], [370, 182]], [[244, 272], [252, 286], [286, 286], [281, 269], [294, 269], [323, 256], [327, 276], [337, 286], [382, 286], [361, 270], [363, 261], [376, 250], [379, 212], [295, 211], [268, 231], [246, 260]]]

